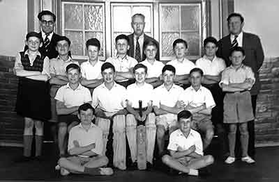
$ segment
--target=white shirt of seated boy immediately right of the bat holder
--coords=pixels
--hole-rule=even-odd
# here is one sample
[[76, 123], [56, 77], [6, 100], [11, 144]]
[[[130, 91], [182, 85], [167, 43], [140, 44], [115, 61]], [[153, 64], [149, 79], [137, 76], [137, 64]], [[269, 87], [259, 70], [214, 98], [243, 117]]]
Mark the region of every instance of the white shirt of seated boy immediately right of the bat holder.
[[154, 89], [153, 106], [160, 108], [160, 104], [163, 104], [164, 106], [174, 107], [183, 91], [183, 88], [179, 85], [173, 84], [169, 91], [165, 88], [164, 84], [160, 85]]

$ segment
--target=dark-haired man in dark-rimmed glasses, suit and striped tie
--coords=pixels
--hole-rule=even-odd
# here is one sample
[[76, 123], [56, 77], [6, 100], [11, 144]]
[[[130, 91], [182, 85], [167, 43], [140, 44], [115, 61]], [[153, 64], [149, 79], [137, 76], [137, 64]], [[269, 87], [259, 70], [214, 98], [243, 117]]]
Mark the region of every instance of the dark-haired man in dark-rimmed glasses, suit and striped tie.
[[[39, 51], [50, 59], [56, 58], [58, 56], [56, 40], [59, 38], [59, 35], [54, 33], [56, 16], [49, 10], [43, 10], [38, 14], [38, 19], [41, 28], [40, 36], [43, 39], [43, 46], [40, 47]], [[25, 49], [27, 47], [24, 47]]]

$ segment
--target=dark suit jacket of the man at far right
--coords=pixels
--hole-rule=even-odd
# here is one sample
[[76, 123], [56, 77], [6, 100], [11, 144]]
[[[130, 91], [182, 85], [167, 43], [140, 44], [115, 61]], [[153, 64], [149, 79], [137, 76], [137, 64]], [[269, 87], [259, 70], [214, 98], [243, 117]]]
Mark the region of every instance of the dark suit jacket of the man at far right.
[[[225, 36], [221, 40], [218, 41], [218, 51], [217, 56], [223, 58], [227, 67], [231, 65], [231, 61], [229, 60], [229, 51], [232, 47], [230, 35]], [[253, 85], [250, 93], [252, 95], [258, 94], [260, 89], [259, 83], [259, 68], [262, 66], [264, 62], [264, 51], [262, 49], [261, 41], [257, 35], [252, 33], [244, 33], [243, 32], [243, 40], [242, 47], [245, 51], [246, 58], [243, 60], [243, 64], [252, 68], [252, 71], [255, 74], [255, 84]]]

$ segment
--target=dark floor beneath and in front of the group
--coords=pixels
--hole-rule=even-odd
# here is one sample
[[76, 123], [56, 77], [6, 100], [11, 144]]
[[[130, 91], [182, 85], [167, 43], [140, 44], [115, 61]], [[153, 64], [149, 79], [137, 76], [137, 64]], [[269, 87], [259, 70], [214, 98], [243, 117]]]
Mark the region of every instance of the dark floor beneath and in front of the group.
[[257, 148], [255, 165], [247, 165], [239, 160], [233, 165], [226, 165], [223, 160], [216, 158], [216, 162], [209, 167], [211, 175], [207, 177], [174, 176], [156, 169], [124, 172], [115, 170], [113, 176], [60, 176], [54, 170], [57, 160], [55, 150], [54, 144], [44, 144], [44, 162], [15, 163], [15, 158], [22, 154], [22, 148], [0, 147], [0, 181], [279, 181], [279, 147]]

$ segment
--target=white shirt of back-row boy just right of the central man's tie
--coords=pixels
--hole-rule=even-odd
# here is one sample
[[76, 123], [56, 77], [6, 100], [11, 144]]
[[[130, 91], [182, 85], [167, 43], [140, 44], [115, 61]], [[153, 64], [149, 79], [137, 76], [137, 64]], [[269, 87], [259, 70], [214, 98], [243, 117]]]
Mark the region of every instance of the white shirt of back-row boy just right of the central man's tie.
[[153, 64], [148, 60], [141, 62], [142, 65], [147, 67], [147, 78], [159, 77], [162, 74], [162, 69], [165, 66], [162, 62], [155, 60]]

